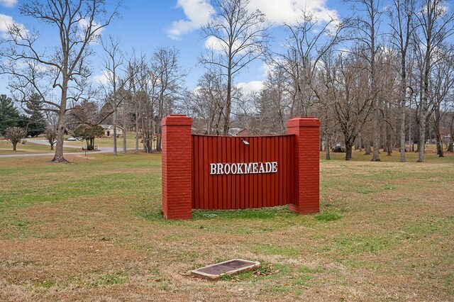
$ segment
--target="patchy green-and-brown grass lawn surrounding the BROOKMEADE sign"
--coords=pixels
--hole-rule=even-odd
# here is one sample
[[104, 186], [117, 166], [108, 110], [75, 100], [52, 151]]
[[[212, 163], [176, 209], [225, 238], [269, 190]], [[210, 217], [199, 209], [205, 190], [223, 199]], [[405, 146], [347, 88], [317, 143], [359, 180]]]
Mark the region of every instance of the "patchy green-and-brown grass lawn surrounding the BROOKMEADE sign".
[[[0, 301], [453, 301], [454, 156], [321, 153], [321, 213], [161, 215], [160, 155], [0, 158]], [[187, 276], [231, 258], [262, 268]]]

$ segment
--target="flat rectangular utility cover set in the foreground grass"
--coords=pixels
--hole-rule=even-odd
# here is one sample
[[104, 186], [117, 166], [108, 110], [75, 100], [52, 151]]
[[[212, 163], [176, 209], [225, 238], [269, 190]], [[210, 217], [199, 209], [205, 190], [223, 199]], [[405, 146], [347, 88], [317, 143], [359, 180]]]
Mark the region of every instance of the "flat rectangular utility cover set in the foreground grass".
[[191, 271], [191, 274], [204, 279], [216, 280], [224, 274], [233, 275], [240, 272], [247, 272], [253, 270], [255, 267], [260, 267], [260, 262], [244, 259], [231, 259], [201, 267], [200, 269], [194, 269]]

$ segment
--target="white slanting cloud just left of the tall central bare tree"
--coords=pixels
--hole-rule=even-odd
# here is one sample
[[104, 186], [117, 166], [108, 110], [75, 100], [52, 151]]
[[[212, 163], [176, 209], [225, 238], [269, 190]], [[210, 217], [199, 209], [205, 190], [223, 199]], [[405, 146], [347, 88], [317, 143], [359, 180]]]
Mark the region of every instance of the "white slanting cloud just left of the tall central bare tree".
[[204, 26], [214, 13], [213, 7], [207, 0], [178, 0], [178, 8], [182, 8], [188, 20], [172, 22], [167, 30], [167, 35], [172, 39], [178, 39], [186, 33]]

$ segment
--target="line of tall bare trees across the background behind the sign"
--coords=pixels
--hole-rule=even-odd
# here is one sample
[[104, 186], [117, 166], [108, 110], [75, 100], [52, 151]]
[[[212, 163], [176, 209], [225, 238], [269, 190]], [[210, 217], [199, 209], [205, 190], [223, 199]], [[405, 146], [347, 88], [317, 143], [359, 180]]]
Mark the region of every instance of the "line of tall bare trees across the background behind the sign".
[[[248, 0], [214, 0], [216, 12], [201, 28], [208, 46], [199, 55], [204, 74], [196, 89], [184, 82], [188, 71], [175, 47], [148, 54], [121, 49], [100, 30], [120, 14], [102, 0], [27, 1], [23, 16], [58, 29], [53, 52], [35, 47], [38, 35], [20, 25], [2, 38], [0, 72], [9, 74], [11, 94], [23, 104], [39, 99], [40, 111], [55, 120], [55, 162], [65, 130], [116, 125], [135, 136], [135, 152], [161, 148], [160, 121], [167, 114], [194, 118], [194, 131], [229, 135], [285, 133], [295, 116], [321, 119], [321, 150], [329, 158], [341, 143], [345, 160], [353, 148], [380, 161], [380, 150], [419, 152], [433, 140], [437, 153], [453, 152], [454, 12], [443, 0], [350, 0], [348, 18], [323, 16], [301, 8], [294, 22], [279, 28], [282, 47], [270, 45], [275, 25]], [[84, 22], [80, 22], [83, 19]], [[92, 43], [101, 41], [102, 53]], [[101, 58], [104, 82], [94, 85], [89, 58]], [[250, 62], [262, 60], [267, 77], [260, 91], [238, 86]], [[80, 130], [80, 129], [79, 129]]]

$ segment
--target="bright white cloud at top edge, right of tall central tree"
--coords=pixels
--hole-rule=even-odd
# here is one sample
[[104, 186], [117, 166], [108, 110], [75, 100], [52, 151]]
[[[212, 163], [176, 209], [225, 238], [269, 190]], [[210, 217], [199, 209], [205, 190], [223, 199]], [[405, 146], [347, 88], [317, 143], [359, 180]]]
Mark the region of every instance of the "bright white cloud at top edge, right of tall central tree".
[[249, 9], [260, 9], [268, 21], [278, 25], [295, 24], [297, 18], [301, 16], [301, 10], [313, 13], [319, 21], [328, 22], [331, 18], [338, 18], [338, 13], [328, 9], [326, 2], [326, 0], [250, 0]]

